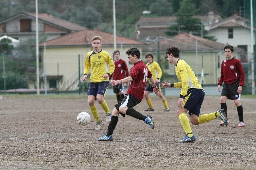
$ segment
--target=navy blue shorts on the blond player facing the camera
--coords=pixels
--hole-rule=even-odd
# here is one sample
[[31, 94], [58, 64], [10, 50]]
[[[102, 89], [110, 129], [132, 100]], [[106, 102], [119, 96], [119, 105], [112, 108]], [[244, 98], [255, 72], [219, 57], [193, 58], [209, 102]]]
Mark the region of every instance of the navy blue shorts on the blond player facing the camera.
[[107, 89], [108, 89], [109, 82], [108, 81], [102, 81], [98, 83], [90, 83], [88, 95], [97, 96], [97, 94], [105, 95]]

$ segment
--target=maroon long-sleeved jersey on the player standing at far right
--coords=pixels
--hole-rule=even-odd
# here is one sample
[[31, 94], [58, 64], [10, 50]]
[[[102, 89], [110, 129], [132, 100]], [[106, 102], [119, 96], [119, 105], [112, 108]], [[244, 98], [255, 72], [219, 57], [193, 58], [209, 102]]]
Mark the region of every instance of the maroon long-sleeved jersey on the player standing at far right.
[[244, 86], [244, 69], [241, 62], [234, 57], [231, 60], [224, 60], [221, 63], [218, 85], [222, 85], [223, 81], [231, 85], [237, 80], [239, 80], [239, 85]]

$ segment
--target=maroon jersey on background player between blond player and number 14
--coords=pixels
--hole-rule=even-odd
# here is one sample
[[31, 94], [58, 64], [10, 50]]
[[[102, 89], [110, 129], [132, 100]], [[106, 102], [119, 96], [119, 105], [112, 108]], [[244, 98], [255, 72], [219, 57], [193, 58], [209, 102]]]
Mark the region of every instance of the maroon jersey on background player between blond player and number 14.
[[116, 67], [109, 79], [113, 76], [113, 80], [121, 80], [129, 76], [128, 68], [124, 60], [120, 59], [119, 61], [114, 61], [114, 63]]

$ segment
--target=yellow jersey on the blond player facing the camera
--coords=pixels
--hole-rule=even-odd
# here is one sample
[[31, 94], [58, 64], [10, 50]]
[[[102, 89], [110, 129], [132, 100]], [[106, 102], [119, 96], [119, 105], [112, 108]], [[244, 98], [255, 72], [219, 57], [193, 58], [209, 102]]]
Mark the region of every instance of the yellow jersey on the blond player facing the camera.
[[90, 80], [92, 83], [109, 81], [109, 78], [103, 78], [104, 74], [110, 76], [115, 70], [115, 64], [107, 51], [101, 50], [98, 53], [91, 51], [87, 53], [84, 62], [84, 75], [88, 75], [92, 68]]

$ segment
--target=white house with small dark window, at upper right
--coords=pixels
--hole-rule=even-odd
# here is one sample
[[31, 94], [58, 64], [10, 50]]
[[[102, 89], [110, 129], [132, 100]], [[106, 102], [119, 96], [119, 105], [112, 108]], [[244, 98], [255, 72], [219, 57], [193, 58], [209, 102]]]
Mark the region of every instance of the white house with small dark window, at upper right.
[[[215, 36], [217, 42], [243, 48], [245, 52], [250, 54], [252, 53], [251, 28], [248, 23], [248, 19], [233, 15], [212, 24], [207, 35]], [[255, 37], [255, 33], [253, 37]], [[255, 44], [254, 38], [253, 44]], [[243, 62], [247, 62], [247, 58], [243, 60]]]

